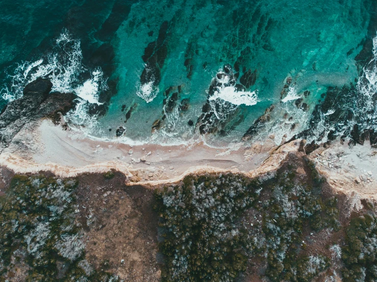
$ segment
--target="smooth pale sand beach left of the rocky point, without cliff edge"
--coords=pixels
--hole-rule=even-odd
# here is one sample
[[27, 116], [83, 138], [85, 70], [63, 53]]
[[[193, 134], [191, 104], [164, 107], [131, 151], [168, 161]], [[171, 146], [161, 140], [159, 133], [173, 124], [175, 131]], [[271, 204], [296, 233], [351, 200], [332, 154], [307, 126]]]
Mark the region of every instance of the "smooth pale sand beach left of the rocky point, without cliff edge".
[[[20, 141], [18, 141], [20, 140]], [[249, 172], [257, 168], [277, 146], [269, 139], [264, 145], [235, 149], [216, 149], [200, 143], [180, 146], [145, 144], [130, 146], [118, 142], [91, 140], [83, 133], [63, 130], [44, 119], [21, 130], [11, 145], [3, 150], [2, 157], [13, 156], [26, 162], [24, 166], [60, 167], [66, 171], [91, 172], [116, 168], [120, 171], [159, 171], [157, 179], [170, 179], [194, 167], [218, 168]], [[35, 168], [37, 170], [37, 168]], [[148, 177], [148, 180], [157, 180]]]

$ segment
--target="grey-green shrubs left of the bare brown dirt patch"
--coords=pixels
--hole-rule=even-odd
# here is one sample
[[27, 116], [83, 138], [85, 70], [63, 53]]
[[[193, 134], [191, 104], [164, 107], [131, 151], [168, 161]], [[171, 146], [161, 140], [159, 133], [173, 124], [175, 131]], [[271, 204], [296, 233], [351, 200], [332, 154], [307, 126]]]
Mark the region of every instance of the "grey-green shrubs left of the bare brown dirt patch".
[[0, 281], [109, 281], [85, 259], [77, 181], [16, 175], [0, 197]]

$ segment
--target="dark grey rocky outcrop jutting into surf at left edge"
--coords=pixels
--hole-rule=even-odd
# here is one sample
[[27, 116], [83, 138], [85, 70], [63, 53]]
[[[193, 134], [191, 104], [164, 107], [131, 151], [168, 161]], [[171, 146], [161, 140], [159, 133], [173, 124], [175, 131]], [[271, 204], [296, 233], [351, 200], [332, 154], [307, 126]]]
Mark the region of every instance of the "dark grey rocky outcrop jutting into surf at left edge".
[[49, 94], [53, 84], [48, 79], [37, 78], [23, 90], [23, 96], [10, 102], [0, 115], [0, 150], [8, 147], [21, 128], [56, 112], [67, 112], [73, 107], [74, 94]]

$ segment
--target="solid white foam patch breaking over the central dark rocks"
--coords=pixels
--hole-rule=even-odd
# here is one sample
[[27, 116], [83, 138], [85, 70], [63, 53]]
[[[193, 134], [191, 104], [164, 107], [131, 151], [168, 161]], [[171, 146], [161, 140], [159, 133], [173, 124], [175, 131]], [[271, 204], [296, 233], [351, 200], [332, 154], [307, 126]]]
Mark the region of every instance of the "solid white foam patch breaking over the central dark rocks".
[[237, 91], [235, 87], [228, 86], [222, 87], [219, 91], [215, 91], [209, 100], [221, 99], [234, 105], [245, 104], [246, 106], [252, 106], [257, 104], [257, 98], [256, 91]]

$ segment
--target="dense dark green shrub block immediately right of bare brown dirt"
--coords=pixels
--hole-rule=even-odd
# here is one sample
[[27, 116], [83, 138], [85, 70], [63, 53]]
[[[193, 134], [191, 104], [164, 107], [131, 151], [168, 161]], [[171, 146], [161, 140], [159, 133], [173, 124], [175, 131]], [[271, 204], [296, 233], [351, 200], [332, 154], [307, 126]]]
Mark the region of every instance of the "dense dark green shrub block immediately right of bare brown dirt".
[[167, 231], [160, 244], [164, 281], [234, 280], [246, 269], [246, 233], [232, 223], [258, 197], [252, 182], [231, 174], [188, 176], [155, 195]]

